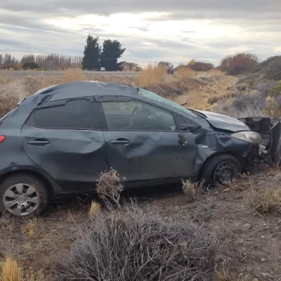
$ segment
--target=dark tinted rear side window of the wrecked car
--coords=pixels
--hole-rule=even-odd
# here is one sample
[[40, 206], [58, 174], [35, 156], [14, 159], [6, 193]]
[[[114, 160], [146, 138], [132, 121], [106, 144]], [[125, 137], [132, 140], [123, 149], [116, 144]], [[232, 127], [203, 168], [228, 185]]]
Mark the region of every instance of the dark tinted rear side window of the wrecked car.
[[45, 129], [91, 129], [97, 121], [98, 113], [91, 110], [90, 101], [79, 99], [69, 100], [65, 105], [39, 108], [27, 124]]

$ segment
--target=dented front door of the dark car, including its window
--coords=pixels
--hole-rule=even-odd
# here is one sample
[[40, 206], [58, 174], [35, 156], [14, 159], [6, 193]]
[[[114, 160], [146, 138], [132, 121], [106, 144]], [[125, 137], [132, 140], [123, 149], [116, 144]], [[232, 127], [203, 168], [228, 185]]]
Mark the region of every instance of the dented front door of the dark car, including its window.
[[[179, 143], [181, 124], [173, 112], [132, 98], [101, 97], [97, 101], [110, 167], [119, 172], [126, 185], [194, 176], [197, 145], [188, 132], [186, 143]], [[182, 117], [179, 119], [184, 123]]]

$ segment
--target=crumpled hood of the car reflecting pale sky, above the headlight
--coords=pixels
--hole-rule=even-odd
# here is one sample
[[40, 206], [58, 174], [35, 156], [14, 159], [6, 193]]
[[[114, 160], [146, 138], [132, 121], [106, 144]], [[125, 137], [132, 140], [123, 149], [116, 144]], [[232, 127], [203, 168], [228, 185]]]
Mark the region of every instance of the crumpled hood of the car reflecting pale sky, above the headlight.
[[207, 117], [207, 121], [211, 126], [216, 129], [228, 130], [228, 131], [250, 131], [249, 126], [244, 124], [244, 122], [235, 119], [227, 115], [220, 115], [218, 113], [196, 110], [203, 113]]

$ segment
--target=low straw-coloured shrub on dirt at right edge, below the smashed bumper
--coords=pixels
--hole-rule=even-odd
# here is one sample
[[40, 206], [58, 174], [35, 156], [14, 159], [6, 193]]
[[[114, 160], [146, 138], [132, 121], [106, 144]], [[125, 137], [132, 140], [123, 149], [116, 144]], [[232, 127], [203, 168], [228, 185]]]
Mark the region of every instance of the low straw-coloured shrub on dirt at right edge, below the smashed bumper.
[[281, 189], [251, 190], [246, 202], [259, 214], [274, 214], [281, 209]]

